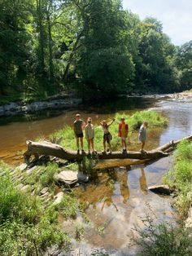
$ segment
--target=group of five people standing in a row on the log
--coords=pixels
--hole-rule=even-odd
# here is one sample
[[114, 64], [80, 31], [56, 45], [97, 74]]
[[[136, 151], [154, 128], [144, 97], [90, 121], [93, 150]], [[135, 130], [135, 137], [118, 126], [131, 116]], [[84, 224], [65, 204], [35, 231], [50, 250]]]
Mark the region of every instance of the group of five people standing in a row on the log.
[[[112, 135], [109, 132], [109, 127], [112, 125], [112, 123], [116, 121], [115, 118], [112, 118], [110, 123], [107, 123], [107, 121], [103, 120], [100, 122], [100, 125], [102, 126], [103, 129], [103, 153], [109, 152], [111, 153], [111, 139]], [[141, 151], [143, 152], [143, 148], [145, 146], [146, 142], [146, 127], [148, 126], [148, 123], [146, 121], [143, 122], [142, 126], [140, 127], [139, 130], [139, 135], [138, 139], [142, 143], [142, 148]], [[83, 130], [85, 130], [85, 138], [87, 139], [88, 142], [88, 153], [90, 153], [90, 148], [92, 149], [92, 153], [96, 153], [94, 150], [94, 125], [92, 124], [92, 118], [89, 117], [87, 119], [87, 124], [85, 124], [85, 121], [81, 120], [81, 115], [76, 114], [76, 120], [73, 123], [73, 130], [76, 136], [76, 147], [77, 147], [77, 154], [80, 153], [80, 143], [81, 143], [81, 152], [82, 154], [84, 153], [83, 149]], [[126, 139], [128, 136], [129, 132], [129, 125], [128, 123], [125, 122], [125, 118], [121, 117], [120, 118], [120, 123], [119, 123], [119, 130], [118, 130], [118, 136], [121, 139], [122, 143], [122, 153], [126, 154], [127, 153], [127, 143]], [[108, 149], [107, 149], [107, 145]]]

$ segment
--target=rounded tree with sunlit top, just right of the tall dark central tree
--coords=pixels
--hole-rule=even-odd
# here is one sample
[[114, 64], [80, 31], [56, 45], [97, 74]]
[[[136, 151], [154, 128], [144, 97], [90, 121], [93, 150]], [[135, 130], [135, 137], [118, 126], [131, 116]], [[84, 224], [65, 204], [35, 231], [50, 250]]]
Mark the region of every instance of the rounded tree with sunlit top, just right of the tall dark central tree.
[[[136, 63], [137, 86], [143, 92], [170, 91], [177, 87], [177, 77], [172, 66], [174, 46], [162, 33], [162, 24], [155, 19], [141, 23], [138, 43], [139, 59]], [[174, 89], [173, 89], [174, 90]]]

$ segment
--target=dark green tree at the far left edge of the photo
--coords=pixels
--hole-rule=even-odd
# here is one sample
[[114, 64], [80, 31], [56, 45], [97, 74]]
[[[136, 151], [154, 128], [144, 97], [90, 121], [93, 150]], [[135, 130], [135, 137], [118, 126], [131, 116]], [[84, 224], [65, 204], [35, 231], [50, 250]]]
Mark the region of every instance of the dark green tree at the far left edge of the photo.
[[29, 22], [28, 0], [0, 2], [0, 91], [28, 68], [30, 35], [25, 23]]

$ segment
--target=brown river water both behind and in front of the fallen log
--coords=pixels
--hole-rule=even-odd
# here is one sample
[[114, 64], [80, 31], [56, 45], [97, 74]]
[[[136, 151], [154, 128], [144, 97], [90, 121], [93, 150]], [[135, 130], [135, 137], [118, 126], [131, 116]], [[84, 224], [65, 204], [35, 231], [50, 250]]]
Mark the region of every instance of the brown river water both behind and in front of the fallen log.
[[[0, 119], [0, 159], [11, 165], [23, 161], [20, 153], [26, 148], [27, 139], [39, 136], [47, 137], [65, 125], [72, 125], [75, 113], [81, 112], [84, 120], [91, 116], [94, 123], [114, 117], [116, 112], [133, 114], [136, 110], [155, 109], [168, 117], [168, 127], [149, 130], [146, 149], [156, 148], [172, 139], [181, 139], [192, 134], [192, 102], [188, 100], [153, 98], [122, 98], [111, 104], [80, 106], [78, 109], [47, 111], [25, 117], [4, 117]], [[138, 149], [139, 145], [129, 145]], [[172, 157], [162, 158], [146, 166], [132, 166], [130, 161], [110, 161], [111, 167], [98, 172], [97, 179], [83, 187], [74, 189], [79, 201], [84, 205], [84, 214], [79, 213], [73, 220], [85, 229], [81, 241], [72, 241], [80, 255], [91, 255], [98, 249], [100, 255], [137, 255], [137, 246], [129, 247], [135, 227], [144, 228], [142, 218], [155, 213], [155, 222], [175, 223], [177, 213], [171, 206], [171, 200], [158, 196], [146, 188], [162, 183], [163, 174], [172, 166]], [[106, 161], [100, 162], [104, 168]], [[138, 162], [141, 164], [141, 162]], [[118, 166], [118, 164], [117, 164]], [[127, 166], [127, 167], [124, 167]], [[72, 221], [63, 221], [63, 228], [72, 230]], [[103, 254], [102, 254], [103, 253]]]

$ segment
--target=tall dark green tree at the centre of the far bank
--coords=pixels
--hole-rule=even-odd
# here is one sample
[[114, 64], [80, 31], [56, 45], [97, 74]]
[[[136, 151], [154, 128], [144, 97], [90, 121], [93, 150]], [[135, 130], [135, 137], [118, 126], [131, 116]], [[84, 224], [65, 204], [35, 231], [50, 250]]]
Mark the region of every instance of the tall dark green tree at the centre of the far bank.
[[94, 0], [88, 7], [89, 25], [76, 64], [85, 94], [116, 94], [132, 83], [132, 56], [121, 42], [121, 12], [120, 1]]

